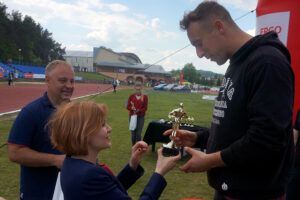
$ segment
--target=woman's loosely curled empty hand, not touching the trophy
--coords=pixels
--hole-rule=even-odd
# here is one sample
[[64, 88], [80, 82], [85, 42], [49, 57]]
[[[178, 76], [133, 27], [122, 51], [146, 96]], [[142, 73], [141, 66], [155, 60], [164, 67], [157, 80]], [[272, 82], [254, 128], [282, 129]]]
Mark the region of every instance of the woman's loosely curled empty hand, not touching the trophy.
[[137, 142], [131, 150], [131, 158], [129, 161], [129, 166], [136, 170], [139, 164], [142, 162], [143, 154], [149, 153], [149, 146], [146, 142], [139, 141]]

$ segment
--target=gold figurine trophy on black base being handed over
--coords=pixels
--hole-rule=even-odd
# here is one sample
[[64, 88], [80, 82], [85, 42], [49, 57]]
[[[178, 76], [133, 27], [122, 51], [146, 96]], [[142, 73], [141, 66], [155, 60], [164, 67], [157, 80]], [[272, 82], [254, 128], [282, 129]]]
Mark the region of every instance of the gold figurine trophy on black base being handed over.
[[[180, 103], [180, 107], [172, 110], [169, 113], [169, 116], [174, 116], [174, 122], [172, 125], [172, 134], [171, 134], [171, 142], [168, 144], [163, 144], [163, 155], [164, 156], [176, 156], [179, 154], [179, 148], [177, 148], [174, 144], [174, 139], [176, 136], [176, 131], [179, 129], [181, 119], [187, 119], [188, 116], [183, 110], [183, 103]], [[170, 117], [169, 117], [170, 118]]]

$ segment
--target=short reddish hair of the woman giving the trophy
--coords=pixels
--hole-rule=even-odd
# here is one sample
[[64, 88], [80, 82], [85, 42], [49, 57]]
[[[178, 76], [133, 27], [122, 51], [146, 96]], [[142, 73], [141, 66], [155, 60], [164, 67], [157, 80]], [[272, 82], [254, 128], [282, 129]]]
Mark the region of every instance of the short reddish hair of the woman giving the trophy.
[[49, 120], [51, 142], [67, 155], [87, 155], [88, 136], [96, 133], [107, 114], [105, 104], [73, 101], [59, 106]]

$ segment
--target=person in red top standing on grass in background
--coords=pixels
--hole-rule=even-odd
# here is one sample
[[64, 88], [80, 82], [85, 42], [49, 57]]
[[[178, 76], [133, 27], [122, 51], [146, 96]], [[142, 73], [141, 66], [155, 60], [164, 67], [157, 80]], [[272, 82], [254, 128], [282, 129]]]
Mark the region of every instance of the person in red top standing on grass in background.
[[141, 134], [145, 122], [145, 115], [148, 109], [148, 96], [143, 94], [143, 84], [136, 81], [134, 84], [135, 93], [131, 94], [127, 102], [129, 119], [132, 115], [137, 115], [136, 129], [131, 131], [132, 146], [141, 140]]

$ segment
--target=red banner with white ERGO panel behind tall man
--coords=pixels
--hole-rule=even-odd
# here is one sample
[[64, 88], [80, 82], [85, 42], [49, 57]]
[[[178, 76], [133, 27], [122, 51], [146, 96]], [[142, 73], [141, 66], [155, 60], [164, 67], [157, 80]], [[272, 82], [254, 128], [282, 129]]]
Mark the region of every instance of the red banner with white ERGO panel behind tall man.
[[256, 8], [256, 34], [270, 30], [277, 32], [292, 57], [295, 74], [294, 120], [300, 108], [300, 1], [258, 0]]

